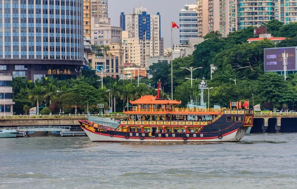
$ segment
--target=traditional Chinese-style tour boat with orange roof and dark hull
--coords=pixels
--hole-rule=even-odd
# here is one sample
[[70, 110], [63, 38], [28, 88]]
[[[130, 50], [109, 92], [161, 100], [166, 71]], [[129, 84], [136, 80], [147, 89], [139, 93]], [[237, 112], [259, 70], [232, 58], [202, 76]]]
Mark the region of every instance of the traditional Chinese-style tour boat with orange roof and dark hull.
[[79, 120], [92, 142], [239, 142], [252, 127], [251, 109], [180, 108], [181, 101], [141, 96], [114, 129]]

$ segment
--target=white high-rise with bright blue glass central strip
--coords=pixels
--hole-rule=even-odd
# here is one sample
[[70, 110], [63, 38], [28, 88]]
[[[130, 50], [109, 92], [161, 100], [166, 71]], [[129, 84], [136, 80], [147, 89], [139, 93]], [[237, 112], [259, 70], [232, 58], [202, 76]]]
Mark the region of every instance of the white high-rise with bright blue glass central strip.
[[128, 38], [138, 38], [141, 46], [141, 66], [147, 65], [149, 57], [160, 55], [160, 13], [147, 14], [144, 7], [134, 8], [133, 14], [120, 15], [120, 27], [128, 31]]

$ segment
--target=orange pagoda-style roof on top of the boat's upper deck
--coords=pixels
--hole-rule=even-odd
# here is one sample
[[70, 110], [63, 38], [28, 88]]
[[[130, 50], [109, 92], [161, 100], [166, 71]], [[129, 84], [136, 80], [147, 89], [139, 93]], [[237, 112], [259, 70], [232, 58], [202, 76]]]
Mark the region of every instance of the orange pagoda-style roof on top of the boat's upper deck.
[[157, 99], [156, 96], [153, 95], [145, 95], [141, 96], [141, 98], [137, 100], [130, 100], [131, 104], [181, 104], [182, 101], [177, 100], [169, 100], [169, 99]]

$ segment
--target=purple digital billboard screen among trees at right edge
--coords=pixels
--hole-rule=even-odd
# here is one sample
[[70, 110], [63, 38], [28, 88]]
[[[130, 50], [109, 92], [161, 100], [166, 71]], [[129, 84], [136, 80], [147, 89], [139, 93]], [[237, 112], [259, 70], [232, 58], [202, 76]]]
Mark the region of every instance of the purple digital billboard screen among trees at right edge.
[[288, 53], [287, 71], [296, 70], [296, 47], [264, 48], [264, 71], [284, 71], [283, 53]]

